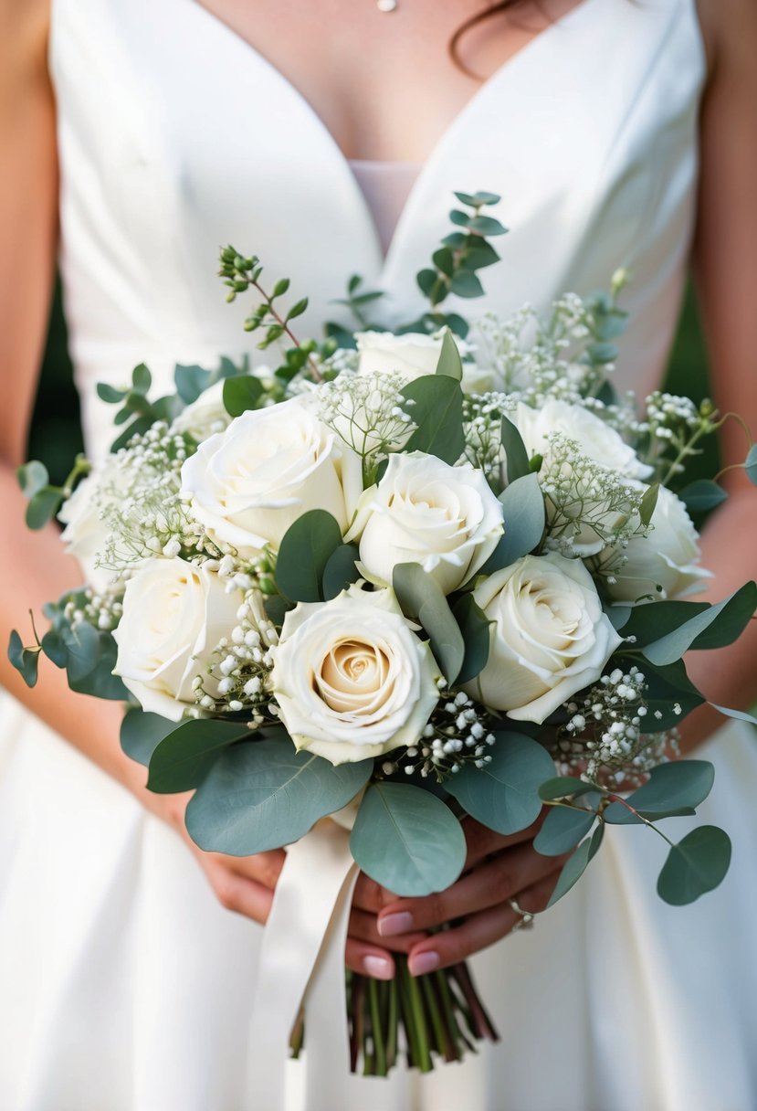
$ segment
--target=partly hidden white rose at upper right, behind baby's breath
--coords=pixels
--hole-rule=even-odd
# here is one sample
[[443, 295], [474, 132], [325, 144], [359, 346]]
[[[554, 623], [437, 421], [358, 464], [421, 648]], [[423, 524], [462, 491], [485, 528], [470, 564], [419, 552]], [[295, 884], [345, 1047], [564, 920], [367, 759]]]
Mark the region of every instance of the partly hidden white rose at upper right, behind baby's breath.
[[547, 438], [553, 432], [562, 432], [578, 443], [582, 454], [618, 471], [625, 478], [645, 479], [652, 474], [652, 467], [638, 459], [634, 449], [615, 429], [583, 406], [572, 406], [554, 398], [545, 401], [541, 409], [532, 409], [519, 402], [511, 419], [517, 427], [529, 457], [545, 456], [548, 450]]

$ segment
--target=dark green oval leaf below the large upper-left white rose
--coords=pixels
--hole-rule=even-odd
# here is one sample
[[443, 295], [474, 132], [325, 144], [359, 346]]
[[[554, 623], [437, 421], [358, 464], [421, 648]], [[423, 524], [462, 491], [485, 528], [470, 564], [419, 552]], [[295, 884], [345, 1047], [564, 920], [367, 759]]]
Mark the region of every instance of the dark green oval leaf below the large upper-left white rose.
[[342, 544], [342, 530], [323, 509], [311, 509], [289, 527], [276, 558], [276, 585], [293, 602], [323, 601], [323, 572]]

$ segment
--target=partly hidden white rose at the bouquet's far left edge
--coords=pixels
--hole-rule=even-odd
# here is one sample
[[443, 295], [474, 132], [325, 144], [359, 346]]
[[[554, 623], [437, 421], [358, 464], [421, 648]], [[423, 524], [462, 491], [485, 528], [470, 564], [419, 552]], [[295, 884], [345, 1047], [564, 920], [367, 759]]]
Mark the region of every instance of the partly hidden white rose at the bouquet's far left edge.
[[123, 484], [120, 477], [115, 457], [109, 456], [82, 479], [58, 513], [58, 520], [65, 526], [61, 533], [65, 550], [79, 560], [87, 582], [98, 593], [105, 593], [114, 578], [113, 571], [97, 564], [111, 531], [102, 514], [119, 500]]

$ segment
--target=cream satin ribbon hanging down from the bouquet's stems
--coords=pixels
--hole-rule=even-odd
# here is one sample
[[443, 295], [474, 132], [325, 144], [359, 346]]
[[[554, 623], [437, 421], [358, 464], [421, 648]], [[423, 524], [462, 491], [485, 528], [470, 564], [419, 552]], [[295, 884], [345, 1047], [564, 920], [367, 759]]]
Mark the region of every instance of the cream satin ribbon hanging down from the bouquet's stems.
[[[292, 1028], [304, 1007], [307, 1111], [333, 1111], [350, 1071], [344, 947], [357, 865], [345, 808], [289, 847], [260, 953], [251, 1023], [254, 1111], [284, 1111]], [[341, 824], [343, 822], [344, 824]]]

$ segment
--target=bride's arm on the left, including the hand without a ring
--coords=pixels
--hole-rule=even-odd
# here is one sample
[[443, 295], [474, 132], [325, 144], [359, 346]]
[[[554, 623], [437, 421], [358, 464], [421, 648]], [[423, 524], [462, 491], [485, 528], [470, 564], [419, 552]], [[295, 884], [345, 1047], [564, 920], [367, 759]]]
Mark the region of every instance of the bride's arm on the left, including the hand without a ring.
[[[189, 839], [188, 795], [145, 789], [140, 764], [121, 751], [122, 707], [74, 694], [65, 675], [44, 667], [30, 691], [10, 665], [10, 630], [27, 635], [29, 609], [39, 625], [43, 602], [78, 585], [54, 526], [32, 533], [23, 526], [26, 500], [16, 468], [26, 459], [27, 429], [44, 343], [58, 233], [54, 102], [47, 72], [49, 0], [0, 0], [0, 682], [103, 771], [184, 838], [223, 905], [259, 922], [268, 918], [283, 851], [233, 858], [201, 852]], [[47, 661], [44, 661], [47, 662]], [[93, 829], [91, 835], [97, 838]], [[365, 900], [363, 900], [365, 902]], [[422, 934], [398, 939], [407, 949]], [[386, 943], [377, 944], [375, 912], [353, 913], [347, 961], [360, 972], [391, 977]]]

